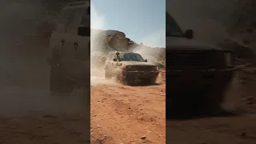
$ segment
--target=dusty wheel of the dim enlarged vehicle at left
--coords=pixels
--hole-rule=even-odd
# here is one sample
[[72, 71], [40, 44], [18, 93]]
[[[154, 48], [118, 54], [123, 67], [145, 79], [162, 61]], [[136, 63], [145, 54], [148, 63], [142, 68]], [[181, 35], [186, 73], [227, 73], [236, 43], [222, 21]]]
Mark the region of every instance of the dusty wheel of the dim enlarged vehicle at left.
[[74, 83], [62, 78], [57, 70], [50, 70], [50, 92], [71, 94], [74, 89]]

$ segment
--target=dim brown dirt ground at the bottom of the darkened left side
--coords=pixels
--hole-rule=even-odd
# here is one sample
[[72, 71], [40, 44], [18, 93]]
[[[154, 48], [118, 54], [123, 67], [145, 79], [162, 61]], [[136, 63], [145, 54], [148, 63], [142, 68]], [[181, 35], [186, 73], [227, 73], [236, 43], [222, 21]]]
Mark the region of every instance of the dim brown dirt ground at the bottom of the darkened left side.
[[[75, 97], [79, 94], [69, 98], [27, 92], [5, 94], [2, 92], [0, 143], [90, 143], [90, 106]], [[36, 94], [40, 96], [33, 97]]]

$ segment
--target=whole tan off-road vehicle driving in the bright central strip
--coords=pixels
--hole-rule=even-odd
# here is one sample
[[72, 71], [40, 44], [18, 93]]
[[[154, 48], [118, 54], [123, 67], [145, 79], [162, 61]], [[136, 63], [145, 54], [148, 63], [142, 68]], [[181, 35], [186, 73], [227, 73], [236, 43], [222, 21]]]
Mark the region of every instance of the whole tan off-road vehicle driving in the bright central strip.
[[133, 52], [110, 52], [106, 56], [105, 78], [116, 77], [119, 82], [134, 85], [139, 81], [153, 84], [159, 74], [158, 66], [147, 63], [140, 54]]

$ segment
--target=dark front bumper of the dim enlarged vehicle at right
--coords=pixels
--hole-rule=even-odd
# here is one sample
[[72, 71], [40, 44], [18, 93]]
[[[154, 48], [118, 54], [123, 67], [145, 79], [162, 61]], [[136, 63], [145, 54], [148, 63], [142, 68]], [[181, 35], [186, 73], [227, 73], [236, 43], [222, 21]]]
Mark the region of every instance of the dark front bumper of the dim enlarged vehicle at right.
[[207, 87], [226, 86], [234, 75], [234, 69], [225, 70], [166, 70], [168, 90], [204, 90]]

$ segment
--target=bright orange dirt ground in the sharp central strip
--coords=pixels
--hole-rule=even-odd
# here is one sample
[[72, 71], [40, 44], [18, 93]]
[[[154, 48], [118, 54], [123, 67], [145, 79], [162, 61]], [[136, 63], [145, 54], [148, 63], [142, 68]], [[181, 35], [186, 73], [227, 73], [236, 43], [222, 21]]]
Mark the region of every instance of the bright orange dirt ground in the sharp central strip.
[[161, 78], [156, 86], [91, 86], [91, 142], [166, 143], [163, 73]]

